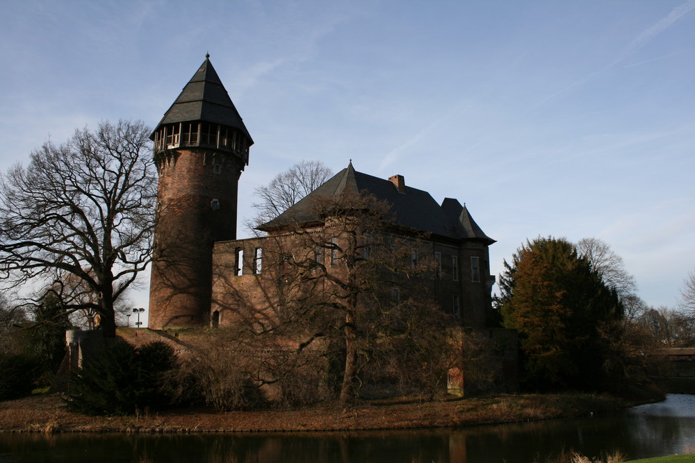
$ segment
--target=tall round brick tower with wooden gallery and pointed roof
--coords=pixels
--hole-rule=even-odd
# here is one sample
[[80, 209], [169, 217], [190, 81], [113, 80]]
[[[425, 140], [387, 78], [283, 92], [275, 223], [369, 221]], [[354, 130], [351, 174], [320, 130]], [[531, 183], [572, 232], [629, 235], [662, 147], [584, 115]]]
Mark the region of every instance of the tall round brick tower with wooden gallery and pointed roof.
[[236, 239], [238, 179], [253, 140], [209, 57], [150, 136], [159, 174], [154, 329], [208, 323], [213, 242]]

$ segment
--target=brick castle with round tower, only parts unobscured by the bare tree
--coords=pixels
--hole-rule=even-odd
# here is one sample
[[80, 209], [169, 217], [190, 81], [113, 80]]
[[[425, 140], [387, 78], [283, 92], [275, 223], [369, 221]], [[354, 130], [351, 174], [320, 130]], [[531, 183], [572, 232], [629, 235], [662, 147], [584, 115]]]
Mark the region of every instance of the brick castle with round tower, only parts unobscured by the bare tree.
[[[312, 204], [358, 193], [390, 205], [390, 235], [418, 237], [412, 259], [416, 262], [416, 253], [432, 258], [435, 270], [427, 291], [441, 310], [452, 314], [459, 326], [491, 326], [495, 279], [489, 274], [488, 247], [494, 240], [465, 205], [449, 198], [440, 205], [429, 193], [407, 186], [400, 175], [376, 178], [355, 171], [350, 162], [259, 227], [268, 237], [236, 239], [238, 180], [254, 142], [209, 55], [151, 138], [159, 186], [150, 328], [224, 326], [234, 323], [240, 311], [272, 309], [262, 276], [268, 269], [274, 269], [276, 277], [282, 273], [288, 251], [271, 255], [271, 243], [275, 248], [278, 242], [301, 247], [297, 230], [327, 227], [326, 217], [312, 210]], [[338, 244], [327, 243], [322, 247], [329, 252], [314, 251], [313, 259], [329, 267], [331, 246]]]

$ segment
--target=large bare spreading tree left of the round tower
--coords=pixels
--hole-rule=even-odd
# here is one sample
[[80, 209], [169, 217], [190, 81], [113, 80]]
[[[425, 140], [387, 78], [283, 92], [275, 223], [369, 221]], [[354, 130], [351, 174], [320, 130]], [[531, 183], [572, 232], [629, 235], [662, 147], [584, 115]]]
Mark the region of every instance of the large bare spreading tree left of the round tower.
[[45, 143], [28, 167], [0, 176], [6, 285], [53, 287], [74, 278], [95, 299], [63, 292], [65, 310], [94, 310], [105, 334], [115, 335], [114, 306], [152, 249], [156, 172], [148, 136], [139, 121], [102, 122], [64, 144]]

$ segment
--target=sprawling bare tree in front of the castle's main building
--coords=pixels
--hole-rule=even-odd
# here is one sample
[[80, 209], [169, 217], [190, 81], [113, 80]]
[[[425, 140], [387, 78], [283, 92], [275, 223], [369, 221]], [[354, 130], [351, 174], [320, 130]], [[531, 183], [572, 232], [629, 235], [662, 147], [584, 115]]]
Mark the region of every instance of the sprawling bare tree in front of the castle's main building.
[[[297, 353], [325, 352], [328, 383], [341, 405], [366, 385], [377, 392], [386, 384], [439, 389], [451, 360], [446, 328], [453, 321], [432, 297], [432, 243], [397, 228], [389, 203], [374, 196], [329, 195], [311, 209], [320, 225], [288, 218], [281, 233], [252, 245], [262, 248], [262, 269], [245, 278], [259, 285], [252, 292], [259, 297], [248, 300], [231, 283], [215, 307], [236, 326], [285, 339], [277, 344]], [[218, 261], [216, 278], [238, 266], [235, 253]]]

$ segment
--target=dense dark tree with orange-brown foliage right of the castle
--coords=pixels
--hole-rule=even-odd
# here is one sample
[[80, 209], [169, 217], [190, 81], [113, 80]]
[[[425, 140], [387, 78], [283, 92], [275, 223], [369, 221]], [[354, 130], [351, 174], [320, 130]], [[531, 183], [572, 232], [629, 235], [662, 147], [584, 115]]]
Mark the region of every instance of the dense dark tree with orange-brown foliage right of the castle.
[[505, 326], [519, 333], [523, 385], [600, 389], [607, 329], [623, 317], [615, 290], [565, 239], [528, 241], [505, 269], [498, 300]]

